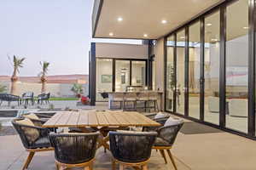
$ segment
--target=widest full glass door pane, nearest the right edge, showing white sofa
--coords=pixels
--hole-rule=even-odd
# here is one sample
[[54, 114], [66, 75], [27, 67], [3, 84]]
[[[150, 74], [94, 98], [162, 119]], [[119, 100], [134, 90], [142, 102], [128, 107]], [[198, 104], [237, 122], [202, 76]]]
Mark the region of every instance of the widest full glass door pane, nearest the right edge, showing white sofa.
[[226, 127], [243, 133], [248, 119], [248, 8], [248, 1], [241, 0], [226, 9]]

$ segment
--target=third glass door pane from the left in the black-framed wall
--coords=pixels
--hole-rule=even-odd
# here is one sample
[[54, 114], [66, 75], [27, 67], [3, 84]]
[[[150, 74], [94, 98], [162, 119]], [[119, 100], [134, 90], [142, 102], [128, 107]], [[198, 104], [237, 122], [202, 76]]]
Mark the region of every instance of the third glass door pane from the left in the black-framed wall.
[[200, 22], [189, 26], [189, 116], [200, 119]]

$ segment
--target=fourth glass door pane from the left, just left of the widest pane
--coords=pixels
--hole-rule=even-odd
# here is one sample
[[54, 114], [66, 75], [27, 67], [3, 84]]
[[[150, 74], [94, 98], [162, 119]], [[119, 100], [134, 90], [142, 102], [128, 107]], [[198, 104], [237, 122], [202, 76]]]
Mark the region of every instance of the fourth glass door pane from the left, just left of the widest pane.
[[219, 11], [205, 18], [204, 121], [219, 124]]

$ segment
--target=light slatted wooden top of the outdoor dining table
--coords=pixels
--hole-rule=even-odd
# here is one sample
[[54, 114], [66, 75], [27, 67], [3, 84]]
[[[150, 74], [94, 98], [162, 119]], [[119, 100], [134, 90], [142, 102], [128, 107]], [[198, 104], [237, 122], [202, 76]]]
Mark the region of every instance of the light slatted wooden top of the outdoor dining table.
[[159, 127], [136, 111], [65, 111], [58, 112], [43, 127]]

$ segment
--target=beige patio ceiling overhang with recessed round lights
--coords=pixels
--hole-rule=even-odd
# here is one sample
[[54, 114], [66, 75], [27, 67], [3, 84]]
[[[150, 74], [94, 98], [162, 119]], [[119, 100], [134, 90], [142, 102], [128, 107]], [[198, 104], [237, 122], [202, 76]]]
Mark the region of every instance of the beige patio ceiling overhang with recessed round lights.
[[93, 37], [158, 39], [222, 2], [224, 0], [96, 0]]

